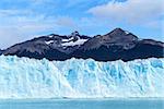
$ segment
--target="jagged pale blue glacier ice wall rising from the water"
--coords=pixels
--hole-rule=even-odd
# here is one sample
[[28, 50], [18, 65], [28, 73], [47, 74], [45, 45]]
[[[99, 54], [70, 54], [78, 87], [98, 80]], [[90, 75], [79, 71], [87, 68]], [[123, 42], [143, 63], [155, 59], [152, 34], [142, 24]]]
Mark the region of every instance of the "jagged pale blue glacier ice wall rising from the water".
[[0, 56], [0, 98], [164, 97], [164, 59], [97, 62]]

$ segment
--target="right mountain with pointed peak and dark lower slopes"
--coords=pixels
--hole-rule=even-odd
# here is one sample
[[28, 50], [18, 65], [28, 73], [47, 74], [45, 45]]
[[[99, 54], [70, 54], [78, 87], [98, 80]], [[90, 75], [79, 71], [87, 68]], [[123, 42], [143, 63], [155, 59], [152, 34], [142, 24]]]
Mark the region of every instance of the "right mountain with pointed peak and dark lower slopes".
[[92, 58], [97, 61], [114, 61], [121, 59], [162, 58], [164, 43], [153, 39], [139, 39], [136, 35], [116, 28], [106, 35], [98, 35], [87, 40], [80, 49], [73, 52], [77, 58]]

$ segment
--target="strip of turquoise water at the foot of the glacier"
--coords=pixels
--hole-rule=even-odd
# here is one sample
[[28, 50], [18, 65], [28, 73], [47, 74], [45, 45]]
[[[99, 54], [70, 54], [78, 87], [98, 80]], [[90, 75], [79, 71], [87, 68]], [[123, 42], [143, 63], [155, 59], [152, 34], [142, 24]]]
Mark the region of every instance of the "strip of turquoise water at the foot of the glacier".
[[164, 109], [164, 99], [0, 100], [0, 109]]

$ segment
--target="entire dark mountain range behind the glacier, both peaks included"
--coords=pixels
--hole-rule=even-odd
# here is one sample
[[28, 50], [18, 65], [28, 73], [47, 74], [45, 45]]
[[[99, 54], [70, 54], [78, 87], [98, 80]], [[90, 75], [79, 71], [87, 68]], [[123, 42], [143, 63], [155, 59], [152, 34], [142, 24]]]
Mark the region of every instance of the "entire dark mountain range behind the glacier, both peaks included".
[[51, 34], [16, 44], [3, 55], [35, 59], [67, 60], [72, 57], [97, 61], [163, 58], [164, 43], [140, 39], [132, 33], [116, 28], [108, 34], [89, 37], [78, 32], [68, 36]]

